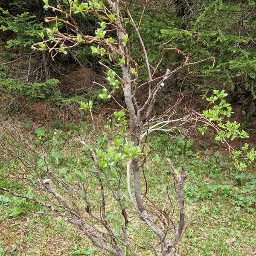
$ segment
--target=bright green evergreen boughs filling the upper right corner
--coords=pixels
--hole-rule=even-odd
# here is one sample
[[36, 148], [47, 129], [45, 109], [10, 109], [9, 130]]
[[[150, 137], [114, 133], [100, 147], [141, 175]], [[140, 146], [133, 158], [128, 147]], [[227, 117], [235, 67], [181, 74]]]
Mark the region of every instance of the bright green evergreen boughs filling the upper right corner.
[[[195, 6], [200, 6], [199, 2]], [[195, 61], [215, 57], [213, 69], [211, 63], [193, 67], [201, 74], [194, 82], [205, 90], [219, 86], [237, 90], [242, 86], [256, 99], [256, 15], [252, 12], [255, 1], [214, 0], [207, 4], [201, 12], [192, 12], [186, 29], [162, 29], [162, 37], [183, 52], [191, 52]]]

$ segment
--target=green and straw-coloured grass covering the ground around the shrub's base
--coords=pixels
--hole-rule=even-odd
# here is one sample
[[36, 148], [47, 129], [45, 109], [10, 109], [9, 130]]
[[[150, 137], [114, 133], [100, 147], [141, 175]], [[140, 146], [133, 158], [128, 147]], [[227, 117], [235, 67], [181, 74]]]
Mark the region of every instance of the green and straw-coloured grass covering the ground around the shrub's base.
[[[25, 126], [33, 127], [32, 124]], [[108, 139], [98, 136], [101, 134], [98, 128], [85, 123], [80, 126], [69, 124], [55, 130], [50, 127], [35, 130], [24, 129], [23, 133], [33, 138], [35, 145], [46, 146], [52, 166], [56, 167], [58, 159], [62, 177], [82, 179], [90, 185], [90, 198], [96, 200], [98, 186], [92, 175], [91, 159], [79, 141], [82, 139], [104, 148]], [[57, 134], [54, 135], [54, 132]], [[39, 136], [41, 140], [38, 140]], [[253, 168], [243, 174], [236, 173], [226, 155], [201, 151], [202, 148], [193, 148], [193, 145], [189, 148], [192, 154], [186, 156], [187, 148], [182, 148], [183, 143], [164, 134], [151, 136], [148, 144], [151, 153], [145, 166], [145, 175], [150, 187], [148, 196], [154, 202], [163, 205], [167, 181], [172, 181], [166, 157], [171, 157], [177, 167], [184, 165], [188, 173], [184, 188], [187, 226], [178, 252], [189, 256], [255, 255], [256, 177]], [[0, 166], [1, 175], [12, 172], [12, 166]], [[80, 172], [84, 176], [79, 175]], [[8, 185], [15, 191], [29, 191], [26, 187], [21, 188], [18, 182], [1, 180], [0, 184]], [[122, 189], [125, 190], [124, 184]], [[174, 195], [172, 200], [174, 204], [177, 203]], [[130, 209], [129, 205], [127, 209]], [[84, 255], [92, 247], [90, 241], [71, 224], [42, 212], [43, 209], [35, 203], [0, 193], [1, 256]], [[134, 215], [130, 210], [128, 213]], [[122, 220], [119, 219], [113, 199], [107, 203], [107, 215], [112, 220], [115, 233], [119, 233]], [[138, 218], [130, 222], [128, 233], [144, 245], [154, 239], [154, 234]], [[99, 253], [96, 250], [91, 255]], [[144, 250], [139, 253], [142, 256], [152, 255]]]

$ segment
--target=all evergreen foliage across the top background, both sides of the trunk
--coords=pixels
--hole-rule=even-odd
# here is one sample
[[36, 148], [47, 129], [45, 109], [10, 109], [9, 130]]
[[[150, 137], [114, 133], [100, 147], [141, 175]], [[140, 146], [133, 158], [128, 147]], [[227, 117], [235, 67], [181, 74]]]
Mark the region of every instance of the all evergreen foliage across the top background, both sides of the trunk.
[[[255, 1], [248, 0], [241, 3], [223, 0], [189, 1], [185, 7], [182, 3], [183, 1], [173, 1], [168, 8], [162, 9], [162, 13], [154, 12], [152, 8], [145, 9], [143, 22], [140, 22], [141, 9], [137, 9], [136, 6], [131, 8], [132, 15], [137, 19], [135, 22], [141, 23], [140, 32], [149, 52], [149, 63], [153, 66], [156, 64], [163, 50], [161, 42], [170, 40], [169, 44], [185, 53], [189, 52], [195, 61], [210, 56], [215, 57], [214, 68], [210, 61], [189, 68], [189, 71], [199, 74], [192, 77], [190, 84], [199, 86], [206, 93], [219, 87], [230, 88], [239, 99], [239, 93], [245, 93], [246, 98], [251, 96], [251, 99], [255, 100], [256, 15], [253, 12], [256, 8]], [[69, 6], [67, 0], [61, 0], [58, 3], [52, 0], [51, 4], [60, 4], [63, 9]], [[159, 6], [160, 4], [155, 8]], [[51, 11], [44, 9], [44, 3], [41, 1], [13, 0], [9, 3], [1, 3], [0, 7], [2, 7], [0, 29], [2, 32], [11, 32], [9, 40], [6, 41], [5, 37], [1, 38], [6, 43], [5, 47], [23, 46], [29, 49], [32, 44], [41, 41], [41, 37], [47, 33], [49, 23], [43, 23], [43, 21]], [[90, 13], [82, 15], [79, 12], [81, 8], [79, 4], [77, 8], [75, 15], [79, 27], [83, 32], [94, 35], [97, 20]], [[59, 26], [60, 28], [63, 29], [64, 34], [68, 35], [69, 31], [66, 27]], [[142, 64], [140, 78], [145, 80], [146, 67], [145, 63], [140, 63], [143, 52], [139, 42], [136, 41], [136, 32], [129, 23], [127, 23], [127, 29], [131, 34], [129, 44], [132, 55], [139, 64]], [[179, 58], [173, 58], [169, 52], [163, 57], [166, 64], [171, 62], [174, 67], [180, 61]], [[72, 49], [69, 58], [74, 61], [79, 60], [85, 66], [97, 65], [97, 58], [90, 55], [90, 47], [87, 45]], [[105, 61], [108, 61], [107, 58]], [[162, 66], [159, 70], [164, 72], [164, 69], [165, 67]], [[183, 70], [183, 72], [186, 71]]]

